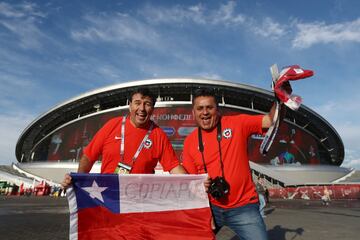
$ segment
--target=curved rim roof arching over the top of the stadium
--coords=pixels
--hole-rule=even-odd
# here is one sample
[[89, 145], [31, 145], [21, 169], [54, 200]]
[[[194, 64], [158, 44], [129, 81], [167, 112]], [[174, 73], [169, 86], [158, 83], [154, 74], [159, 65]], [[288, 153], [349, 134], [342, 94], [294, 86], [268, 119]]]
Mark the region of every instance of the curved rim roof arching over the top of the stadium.
[[[147, 86], [158, 95], [158, 102], [191, 103], [192, 92], [201, 87], [214, 88], [221, 97], [220, 105], [237, 107], [250, 112], [268, 112], [274, 101], [273, 93], [249, 85], [219, 80], [194, 78], [150, 79], [99, 88], [65, 101], [35, 119], [20, 135], [16, 158], [29, 162], [31, 152], [55, 129], [97, 111], [128, 104], [128, 95], [138, 87]], [[329, 164], [341, 165], [344, 145], [336, 130], [319, 114], [302, 105], [298, 111], [287, 111], [285, 121], [311, 134], [319, 144], [319, 154]]]

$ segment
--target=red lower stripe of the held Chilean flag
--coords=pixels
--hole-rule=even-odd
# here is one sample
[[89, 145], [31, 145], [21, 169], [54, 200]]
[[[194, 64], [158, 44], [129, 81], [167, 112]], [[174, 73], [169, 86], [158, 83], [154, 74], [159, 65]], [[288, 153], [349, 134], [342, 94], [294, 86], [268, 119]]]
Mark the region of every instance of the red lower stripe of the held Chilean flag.
[[146, 213], [112, 213], [104, 207], [78, 211], [78, 239], [215, 239], [210, 208]]

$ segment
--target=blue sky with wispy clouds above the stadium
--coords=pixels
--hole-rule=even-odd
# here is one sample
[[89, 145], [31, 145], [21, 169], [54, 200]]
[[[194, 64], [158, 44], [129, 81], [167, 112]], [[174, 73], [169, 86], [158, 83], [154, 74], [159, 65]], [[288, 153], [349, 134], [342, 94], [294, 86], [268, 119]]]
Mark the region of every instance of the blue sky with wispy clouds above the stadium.
[[270, 89], [269, 67], [315, 76], [294, 93], [342, 137], [360, 169], [360, 1], [1, 1], [0, 164], [54, 105], [99, 87], [162, 77]]

